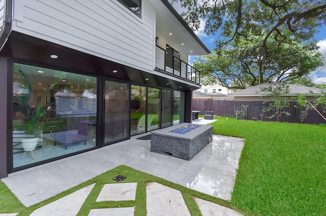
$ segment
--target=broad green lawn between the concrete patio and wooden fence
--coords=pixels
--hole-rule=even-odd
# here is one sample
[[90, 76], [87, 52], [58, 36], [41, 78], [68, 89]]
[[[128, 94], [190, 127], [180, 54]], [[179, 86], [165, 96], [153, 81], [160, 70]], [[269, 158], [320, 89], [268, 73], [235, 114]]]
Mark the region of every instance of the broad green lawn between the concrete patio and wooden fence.
[[219, 117], [246, 139], [231, 205], [248, 215], [326, 215], [326, 126]]

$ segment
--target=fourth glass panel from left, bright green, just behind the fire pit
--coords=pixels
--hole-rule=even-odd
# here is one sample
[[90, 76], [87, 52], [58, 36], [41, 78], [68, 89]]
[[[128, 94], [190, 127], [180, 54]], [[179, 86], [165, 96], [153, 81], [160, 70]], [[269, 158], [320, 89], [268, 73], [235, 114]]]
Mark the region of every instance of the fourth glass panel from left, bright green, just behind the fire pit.
[[160, 91], [158, 88], [148, 87], [148, 116], [147, 131], [159, 128]]

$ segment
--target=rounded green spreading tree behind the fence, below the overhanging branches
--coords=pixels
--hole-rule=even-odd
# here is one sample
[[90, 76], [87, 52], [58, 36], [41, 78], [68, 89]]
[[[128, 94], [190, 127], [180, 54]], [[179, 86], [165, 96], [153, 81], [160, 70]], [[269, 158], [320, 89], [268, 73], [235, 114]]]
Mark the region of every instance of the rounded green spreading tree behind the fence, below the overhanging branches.
[[200, 56], [194, 67], [201, 71], [205, 85], [219, 83], [232, 89], [243, 89], [270, 81], [290, 81], [308, 75], [322, 65], [315, 42], [275, 47], [268, 41], [270, 55], [265, 58], [260, 38], [237, 37], [228, 47]]

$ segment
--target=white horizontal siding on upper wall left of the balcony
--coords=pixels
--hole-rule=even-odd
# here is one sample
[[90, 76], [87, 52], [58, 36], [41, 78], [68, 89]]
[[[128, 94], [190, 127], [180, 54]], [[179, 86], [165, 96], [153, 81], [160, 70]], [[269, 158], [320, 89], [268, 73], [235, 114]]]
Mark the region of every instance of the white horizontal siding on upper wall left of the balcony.
[[155, 13], [146, 4], [140, 19], [116, 0], [17, 2], [24, 4], [23, 18], [15, 22], [14, 30], [152, 71]]

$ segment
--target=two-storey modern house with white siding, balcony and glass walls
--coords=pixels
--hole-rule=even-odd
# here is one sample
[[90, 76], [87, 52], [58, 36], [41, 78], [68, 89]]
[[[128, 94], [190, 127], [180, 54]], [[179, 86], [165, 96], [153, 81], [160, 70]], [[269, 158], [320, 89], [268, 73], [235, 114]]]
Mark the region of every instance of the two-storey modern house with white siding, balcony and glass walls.
[[[192, 121], [201, 85], [187, 59], [209, 50], [168, 0], [0, 0], [0, 9], [0, 178]], [[27, 134], [26, 110], [41, 103], [38, 132]]]

